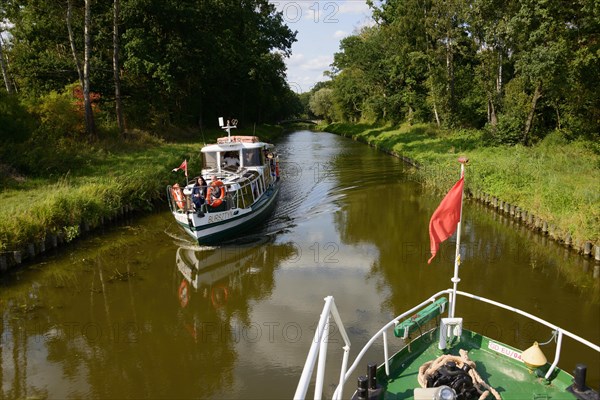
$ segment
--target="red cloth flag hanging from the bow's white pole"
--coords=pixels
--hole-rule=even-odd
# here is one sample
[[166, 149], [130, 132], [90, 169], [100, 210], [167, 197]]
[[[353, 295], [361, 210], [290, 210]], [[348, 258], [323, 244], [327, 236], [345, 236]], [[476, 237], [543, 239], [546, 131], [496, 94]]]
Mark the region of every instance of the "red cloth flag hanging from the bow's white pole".
[[460, 221], [464, 183], [465, 178], [460, 178], [431, 216], [431, 220], [429, 221], [431, 258], [427, 261], [427, 264], [431, 264], [431, 260], [433, 260], [440, 248], [440, 243], [448, 239], [456, 231], [456, 226]]

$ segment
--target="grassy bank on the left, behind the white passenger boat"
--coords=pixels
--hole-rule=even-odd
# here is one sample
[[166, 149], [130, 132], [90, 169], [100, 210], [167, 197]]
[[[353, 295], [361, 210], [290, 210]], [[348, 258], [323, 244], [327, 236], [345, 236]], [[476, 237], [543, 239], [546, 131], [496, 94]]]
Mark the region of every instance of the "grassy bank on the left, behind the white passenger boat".
[[[282, 134], [279, 127], [257, 129], [263, 140]], [[235, 134], [252, 135], [253, 128]], [[75, 239], [79, 226], [97, 226], [125, 205], [151, 210], [165, 197], [165, 187], [184, 182], [182, 171], [171, 172], [188, 160], [190, 177], [200, 172], [200, 146], [223, 136], [220, 130], [195, 133], [189, 141], [168, 143], [145, 134], [126, 141], [84, 144], [72, 156], [85, 159], [80, 167], [60, 175], [21, 176], [7, 166], [0, 191], [0, 252], [21, 250], [29, 243], [60, 234]], [[166, 203], [164, 204], [167, 207]]]

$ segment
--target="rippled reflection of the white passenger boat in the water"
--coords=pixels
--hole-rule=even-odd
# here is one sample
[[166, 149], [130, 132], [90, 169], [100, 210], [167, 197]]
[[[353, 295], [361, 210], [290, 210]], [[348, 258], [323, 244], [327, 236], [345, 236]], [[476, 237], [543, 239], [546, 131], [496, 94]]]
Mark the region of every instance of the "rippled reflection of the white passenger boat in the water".
[[181, 307], [194, 315], [192, 335], [197, 336], [198, 323], [206, 321], [230, 329], [232, 315], [247, 323], [248, 302], [268, 298], [277, 266], [297, 255], [293, 243], [275, 244], [267, 237], [214, 248], [179, 247], [175, 260], [182, 279], [177, 295]]

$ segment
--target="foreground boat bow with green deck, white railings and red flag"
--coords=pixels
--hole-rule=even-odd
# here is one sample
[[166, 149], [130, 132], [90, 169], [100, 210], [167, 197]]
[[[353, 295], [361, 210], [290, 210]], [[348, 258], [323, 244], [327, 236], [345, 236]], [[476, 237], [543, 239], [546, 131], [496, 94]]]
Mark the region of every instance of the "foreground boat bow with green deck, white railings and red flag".
[[[564, 351], [564, 339], [587, 346], [590, 350], [587, 355], [595, 359], [600, 353], [600, 346], [525, 311], [457, 289], [460, 282], [458, 272], [461, 262], [462, 191], [467, 160], [462, 158], [459, 161], [461, 178], [442, 200], [429, 226], [431, 259], [435, 257], [439, 244], [457, 232], [454, 276], [451, 279], [453, 287], [434, 294], [381, 327], [350, 366], [350, 340], [333, 297], [325, 298], [325, 306], [294, 399], [306, 397], [317, 359], [319, 363], [314, 398], [322, 398], [331, 317], [344, 340], [340, 379], [333, 393], [334, 399], [344, 398], [348, 380], [357, 373], [364, 355], [378, 341], [383, 342], [383, 363], [379, 366], [365, 365], [366, 375], [358, 377], [353, 399], [599, 398], [598, 393], [585, 383], [585, 365], [574, 366], [573, 377], [558, 368], [558, 363]], [[552, 334], [551, 340], [556, 342], [552, 361], [547, 362], [545, 356], [538, 357], [537, 343], [523, 352], [494, 338], [465, 329], [463, 318], [455, 315], [457, 298], [460, 296], [476, 301], [477, 310], [482, 313], [488, 311], [485, 307], [499, 307], [546, 327], [548, 334]], [[404, 340], [404, 347], [390, 356], [388, 333], [392, 331]], [[416, 334], [418, 336], [411, 339]]]

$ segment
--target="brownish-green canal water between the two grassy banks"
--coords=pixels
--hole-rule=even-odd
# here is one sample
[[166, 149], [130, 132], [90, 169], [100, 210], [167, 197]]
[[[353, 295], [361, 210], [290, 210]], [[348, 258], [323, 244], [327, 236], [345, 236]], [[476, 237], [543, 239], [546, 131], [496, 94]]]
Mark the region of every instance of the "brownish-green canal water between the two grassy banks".
[[[0, 397], [289, 399], [324, 297], [335, 297], [353, 358], [382, 324], [451, 287], [453, 238], [427, 264], [441, 195], [415, 183], [410, 168], [328, 133], [298, 131], [277, 145], [280, 197], [250, 235], [200, 247], [165, 204], [3, 277]], [[463, 221], [459, 289], [600, 342], [593, 261], [471, 201]], [[460, 298], [456, 313], [520, 348], [552, 336]], [[327, 397], [342, 345], [332, 327]], [[554, 343], [542, 349], [552, 359]], [[382, 354], [377, 344], [365, 363]], [[597, 388], [599, 355], [565, 339], [559, 365], [577, 362]]]

